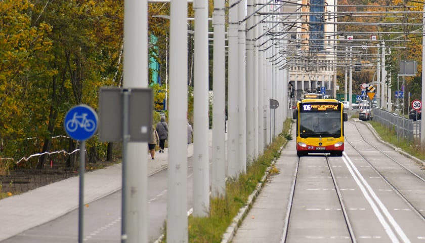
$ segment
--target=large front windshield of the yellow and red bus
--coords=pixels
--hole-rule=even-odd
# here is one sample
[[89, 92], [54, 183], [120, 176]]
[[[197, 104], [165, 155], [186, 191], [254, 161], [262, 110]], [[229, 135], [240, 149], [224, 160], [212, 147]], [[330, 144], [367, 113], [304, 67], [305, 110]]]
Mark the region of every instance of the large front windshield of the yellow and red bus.
[[310, 111], [300, 114], [300, 136], [341, 137], [341, 111]]

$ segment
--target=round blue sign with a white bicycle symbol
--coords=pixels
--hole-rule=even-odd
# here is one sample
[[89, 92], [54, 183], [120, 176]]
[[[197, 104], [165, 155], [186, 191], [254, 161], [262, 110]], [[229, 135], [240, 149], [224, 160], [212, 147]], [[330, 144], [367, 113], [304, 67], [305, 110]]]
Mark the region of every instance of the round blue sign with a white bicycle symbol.
[[95, 134], [98, 116], [96, 111], [88, 105], [72, 107], [65, 115], [65, 131], [75, 140], [86, 140]]

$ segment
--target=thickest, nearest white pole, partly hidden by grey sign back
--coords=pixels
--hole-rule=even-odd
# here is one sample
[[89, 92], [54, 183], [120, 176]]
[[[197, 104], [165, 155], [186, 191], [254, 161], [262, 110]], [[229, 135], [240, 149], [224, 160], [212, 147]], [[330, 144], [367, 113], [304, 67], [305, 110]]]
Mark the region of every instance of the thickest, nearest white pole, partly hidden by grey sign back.
[[[124, 3], [124, 88], [148, 87], [148, 2], [129, 0]], [[125, 205], [121, 242], [148, 242], [147, 143], [129, 142], [126, 165], [122, 165]]]

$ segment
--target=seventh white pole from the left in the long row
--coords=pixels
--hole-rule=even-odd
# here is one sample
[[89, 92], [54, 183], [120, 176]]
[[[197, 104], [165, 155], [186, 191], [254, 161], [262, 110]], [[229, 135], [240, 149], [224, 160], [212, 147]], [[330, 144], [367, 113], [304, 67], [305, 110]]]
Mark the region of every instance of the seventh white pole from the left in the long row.
[[[248, 0], [248, 15], [254, 12], [254, 1]], [[252, 27], [253, 16], [246, 20], [246, 29]], [[248, 163], [254, 159], [254, 30], [246, 32], [246, 159]]]

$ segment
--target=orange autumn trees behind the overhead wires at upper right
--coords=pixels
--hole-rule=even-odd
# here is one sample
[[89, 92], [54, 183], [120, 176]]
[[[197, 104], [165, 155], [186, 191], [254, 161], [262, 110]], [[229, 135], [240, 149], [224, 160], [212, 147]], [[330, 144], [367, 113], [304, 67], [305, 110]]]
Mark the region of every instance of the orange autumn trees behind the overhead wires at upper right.
[[[408, 25], [408, 24], [421, 24], [422, 14], [414, 13], [415, 11], [422, 11], [423, 4], [416, 1], [403, 1], [403, 0], [339, 0], [338, 11], [346, 11], [347, 13], [356, 13], [358, 11], [370, 12], [388, 12], [388, 14], [376, 14], [374, 17], [353, 17], [347, 16], [338, 19], [340, 22], [363, 22], [363, 23], [390, 23], [388, 25], [338, 25], [338, 31], [368, 31], [368, 32], [385, 32], [377, 36], [379, 40], [386, 41], [386, 47], [391, 47], [391, 55], [386, 54], [386, 70], [389, 75], [392, 75], [392, 90], [397, 90], [397, 74], [399, 73], [400, 61], [417, 61], [416, 76], [405, 77], [405, 90], [411, 93], [411, 99], [420, 99], [421, 97], [421, 79], [420, 72], [422, 66], [422, 26]], [[362, 6], [362, 7], [358, 7]], [[383, 7], [391, 6], [391, 7]], [[391, 11], [398, 12], [411, 12], [411, 13], [391, 13]], [[392, 24], [393, 23], [393, 24]], [[404, 23], [404, 24], [403, 24]], [[397, 33], [396, 33], [397, 32]], [[403, 34], [400, 34], [403, 32]], [[370, 36], [359, 36], [362, 39], [368, 39]], [[394, 40], [397, 40], [396, 42]], [[380, 44], [376, 42], [374, 44]], [[371, 58], [377, 59], [377, 48], [369, 48], [364, 52], [369, 52]], [[375, 55], [375, 56], [373, 56]], [[370, 59], [362, 60], [362, 64], [369, 64]], [[375, 62], [376, 65], [376, 62]], [[371, 82], [373, 73], [376, 67], [370, 69], [362, 69], [362, 72], [353, 73], [353, 88], [354, 93], [360, 93], [360, 85], [362, 83]], [[344, 73], [343, 69], [338, 70], [338, 82], [341, 87], [344, 86]], [[389, 76], [387, 76], [389, 77]], [[388, 78], [386, 79], [388, 84]], [[401, 85], [399, 84], [399, 88]], [[394, 95], [394, 94], [393, 94]], [[405, 96], [404, 103], [408, 103], [408, 96]], [[394, 97], [393, 99], [394, 100]], [[406, 111], [409, 110], [409, 105], [405, 106]]]

